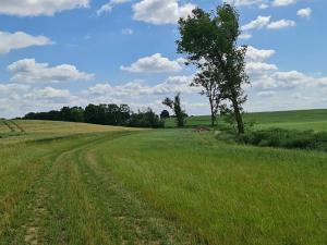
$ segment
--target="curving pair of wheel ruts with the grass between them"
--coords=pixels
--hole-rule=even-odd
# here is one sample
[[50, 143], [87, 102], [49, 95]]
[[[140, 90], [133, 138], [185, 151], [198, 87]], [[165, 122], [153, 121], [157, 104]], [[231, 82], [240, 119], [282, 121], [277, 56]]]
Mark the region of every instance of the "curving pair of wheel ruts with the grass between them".
[[48, 157], [34, 186], [24, 244], [197, 244], [97, 161], [99, 146], [126, 134], [96, 136]]

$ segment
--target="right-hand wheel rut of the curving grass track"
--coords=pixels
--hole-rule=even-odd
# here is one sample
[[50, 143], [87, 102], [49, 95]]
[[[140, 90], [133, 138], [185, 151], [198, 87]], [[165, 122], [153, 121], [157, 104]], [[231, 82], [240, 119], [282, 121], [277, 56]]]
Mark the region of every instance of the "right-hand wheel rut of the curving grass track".
[[[88, 188], [96, 187], [97, 205], [102, 213], [119, 223], [120, 244], [197, 244], [191, 234], [162, 218], [133, 193], [128, 191], [112, 173], [96, 159], [96, 148], [112, 144], [113, 139], [99, 142], [95, 147], [78, 152], [81, 172], [85, 174]], [[93, 185], [93, 186], [92, 186]]]

